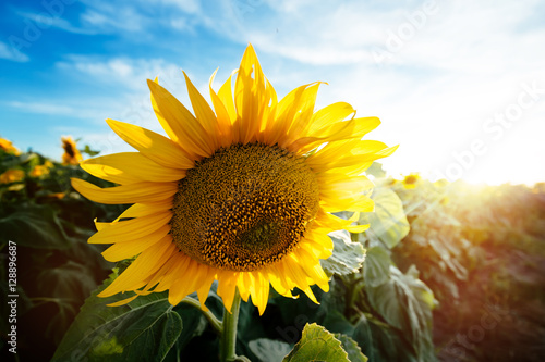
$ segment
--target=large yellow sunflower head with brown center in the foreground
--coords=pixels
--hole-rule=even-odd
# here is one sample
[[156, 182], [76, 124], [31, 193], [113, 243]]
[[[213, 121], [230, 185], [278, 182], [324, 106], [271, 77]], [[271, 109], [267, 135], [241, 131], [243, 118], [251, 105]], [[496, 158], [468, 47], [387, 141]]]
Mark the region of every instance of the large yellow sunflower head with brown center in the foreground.
[[[107, 123], [137, 152], [81, 163], [88, 173], [120, 184], [74, 188], [101, 203], [134, 203], [112, 223], [96, 223], [89, 242], [113, 244], [116, 262], [137, 255], [100, 297], [169, 290], [173, 305], [196, 291], [201, 305], [210, 285], [228, 311], [235, 290], [263, 313], [269, 286], [284, 297], [296, 287], [316, 302], [312, 285], [328, 290], [319, 260], [332, 252], [331, 230], [363, 230], [334, 212], [373, 210], [372, 183], [362, 175], [395, 148], [362, 137], [379, 124], [355, 118], [350, 104], [314, 112], [319, 83], [278, 101], [251, 45], [237, 71], [215, 91], [214, 110], [184, 73], [193, 114], [148, 80], [152, 104], [170, 138], [135, 125]], [[347, 120], [348, 118], [348, 120]], [[354, 214], [356, 215], [356, 214]]]

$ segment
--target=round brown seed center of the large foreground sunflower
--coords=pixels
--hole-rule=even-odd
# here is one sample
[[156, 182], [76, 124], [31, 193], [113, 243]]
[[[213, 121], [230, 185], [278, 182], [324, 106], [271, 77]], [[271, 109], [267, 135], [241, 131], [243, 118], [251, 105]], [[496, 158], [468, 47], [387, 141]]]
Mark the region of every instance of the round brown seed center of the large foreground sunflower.
[[249, 272], [292, 251], [318, 202], [304, 158], [277, 146], [232, 145], [180, 180], [171, 234], [201, 263]]

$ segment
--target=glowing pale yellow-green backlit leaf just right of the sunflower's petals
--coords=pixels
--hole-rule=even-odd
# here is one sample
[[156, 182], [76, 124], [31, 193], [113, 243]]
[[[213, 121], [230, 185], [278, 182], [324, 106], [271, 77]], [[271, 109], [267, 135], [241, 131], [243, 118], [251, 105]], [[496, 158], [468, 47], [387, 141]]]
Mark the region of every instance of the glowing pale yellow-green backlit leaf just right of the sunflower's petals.
[[403, 203], [391, 189], [376, 188], [371, 197], [375, 201], [375, 211], [362, 214], [359, 224], [370, 224], [370, 229], [388, 248], [393, 248], [410, 230]]

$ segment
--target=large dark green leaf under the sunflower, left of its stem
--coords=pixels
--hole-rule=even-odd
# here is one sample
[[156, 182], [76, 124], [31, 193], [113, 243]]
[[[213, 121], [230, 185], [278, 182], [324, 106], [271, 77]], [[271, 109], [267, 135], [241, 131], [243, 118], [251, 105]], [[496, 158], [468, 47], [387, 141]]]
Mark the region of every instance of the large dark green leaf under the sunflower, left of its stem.
[[162, 361], [182, 332], [182, 319], [167, 294], [153, 292], [122, 307], [106, 304], [130, 296], [99, 298], [114, 272], [82, 307], [52, 361]]

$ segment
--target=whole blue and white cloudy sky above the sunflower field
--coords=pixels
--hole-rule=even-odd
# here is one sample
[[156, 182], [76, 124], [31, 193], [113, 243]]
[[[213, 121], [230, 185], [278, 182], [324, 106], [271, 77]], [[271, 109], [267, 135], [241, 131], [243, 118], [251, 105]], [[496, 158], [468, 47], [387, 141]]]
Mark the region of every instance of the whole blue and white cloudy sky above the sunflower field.
[[4, 0], [0, 17], [0, 135], [22, 150], [130, 150], [104, 120], [161, 133], [146, 78], [189, 103], [182, 68], [207, 97], [252, 42], [279, 96], [324, 80], [318, 107], [380, 117], [393, 176], [545, 180], [543, 1]]

